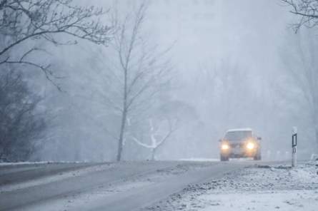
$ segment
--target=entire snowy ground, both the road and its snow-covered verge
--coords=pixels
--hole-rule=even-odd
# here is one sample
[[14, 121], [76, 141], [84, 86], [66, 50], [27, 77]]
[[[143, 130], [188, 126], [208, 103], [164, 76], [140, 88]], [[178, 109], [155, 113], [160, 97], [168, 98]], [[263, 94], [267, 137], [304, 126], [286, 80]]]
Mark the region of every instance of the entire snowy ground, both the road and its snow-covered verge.
[[317, 210], [318, 162], [297, 169], [277, 163], [282, 162], [2, 166], [0, 210]]

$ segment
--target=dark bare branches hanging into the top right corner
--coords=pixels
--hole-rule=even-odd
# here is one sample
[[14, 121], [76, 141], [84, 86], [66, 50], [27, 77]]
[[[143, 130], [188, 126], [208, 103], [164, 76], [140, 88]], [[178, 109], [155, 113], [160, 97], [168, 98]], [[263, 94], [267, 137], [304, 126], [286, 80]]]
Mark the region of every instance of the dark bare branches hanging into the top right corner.
[[298, 23], [291, 24], [297, 33], [301, 26], [317, 29], [318, 26], [318, 1], [316, 0], [280, 0], [284, 6], [291, 6], [292, 14], [300, 16]]

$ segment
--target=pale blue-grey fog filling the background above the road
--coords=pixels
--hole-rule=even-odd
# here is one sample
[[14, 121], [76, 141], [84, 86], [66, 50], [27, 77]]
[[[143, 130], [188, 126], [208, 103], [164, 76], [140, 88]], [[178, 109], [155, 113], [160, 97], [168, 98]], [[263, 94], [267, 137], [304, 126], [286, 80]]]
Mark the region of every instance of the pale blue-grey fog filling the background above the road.
[[114, 27], [106, 45], [56, 34], [77, 43], [39, 38], [12, 51], [44, 48], [34, 59], [57, 76], [24, 71], [46, 120], [29, 160], [219, 159], [219, 139], [234, 128], [262, 137], [264, 159], [284, 159], [293, 126], [299, 158], [317, 153], [317, 31], [295, 34], [288, 26], [299, 19], [280, 1], [149, 1], [126, 69], [120, 55], [129, 54], [139, 1], [72, 4], [103, 7], [101, 23]]

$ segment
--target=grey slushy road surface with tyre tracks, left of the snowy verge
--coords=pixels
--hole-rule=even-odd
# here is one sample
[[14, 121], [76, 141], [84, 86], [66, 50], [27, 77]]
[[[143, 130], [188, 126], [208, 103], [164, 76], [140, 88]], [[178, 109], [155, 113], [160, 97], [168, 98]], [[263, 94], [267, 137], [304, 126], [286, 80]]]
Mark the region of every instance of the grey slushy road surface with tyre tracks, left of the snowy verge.
[[247, 160], [0, 166], [0, 210], [140, 210], [184, 187], [256, 163], [264, 164]]

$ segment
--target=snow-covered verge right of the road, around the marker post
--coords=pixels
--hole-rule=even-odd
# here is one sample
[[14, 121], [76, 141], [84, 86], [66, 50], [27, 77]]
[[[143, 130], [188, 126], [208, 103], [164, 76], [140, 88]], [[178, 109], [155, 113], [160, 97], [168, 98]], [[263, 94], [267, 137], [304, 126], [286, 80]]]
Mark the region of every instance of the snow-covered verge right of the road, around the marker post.
[[254, 165], [192, 185], [145, 210], [317, 210], [318, 162]]

